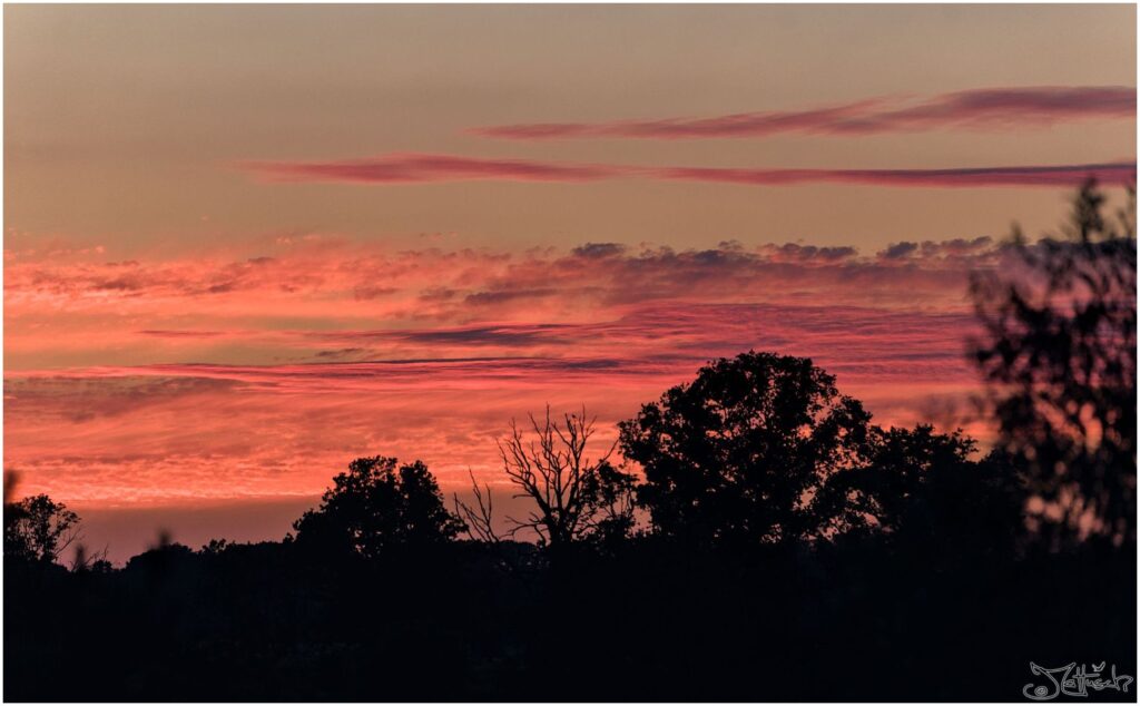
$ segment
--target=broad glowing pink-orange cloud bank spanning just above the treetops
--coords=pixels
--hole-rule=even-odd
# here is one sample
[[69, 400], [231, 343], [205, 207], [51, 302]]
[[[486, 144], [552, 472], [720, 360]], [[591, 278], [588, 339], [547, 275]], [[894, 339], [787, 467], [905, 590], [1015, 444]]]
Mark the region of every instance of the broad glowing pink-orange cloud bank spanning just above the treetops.
[[[469, 465], [496, 478], [512, 416], [585, 403], [612, 440], [640, 404], [749, 348], [813, 357], [880, 421], [913, 423], [975, 389], [967, 275], [1002, 252], [977, 237], [14, 257], [5, 462], [23, 493], [87, 506], [310, 497], [377, 453], [423, 459], [450, 489]], [[360, 298], [368, 285], [392, 291]]]

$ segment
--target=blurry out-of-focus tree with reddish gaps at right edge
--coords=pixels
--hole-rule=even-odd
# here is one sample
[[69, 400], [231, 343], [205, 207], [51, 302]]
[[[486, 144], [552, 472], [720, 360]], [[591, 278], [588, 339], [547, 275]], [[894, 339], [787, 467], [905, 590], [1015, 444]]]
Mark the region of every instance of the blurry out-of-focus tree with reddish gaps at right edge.
[[1134, 195], [1110, 218], [1085, 184], [1060, 237], [1031, 244], [1015, 227], [1005, 266], [971, 285], [985, 330], [972, 355], [1053, 546], [1135, 541]]

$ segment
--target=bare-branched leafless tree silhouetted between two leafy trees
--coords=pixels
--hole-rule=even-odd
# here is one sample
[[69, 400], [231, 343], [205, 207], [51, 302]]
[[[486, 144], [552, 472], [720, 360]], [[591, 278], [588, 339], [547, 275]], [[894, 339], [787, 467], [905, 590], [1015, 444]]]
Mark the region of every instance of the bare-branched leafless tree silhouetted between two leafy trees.
[[583, 408], [581, 414], [564, 414], [559, 424], [548, 406], [542, 422], [532, 414], [528, 417], [527, 432], [512, 420], [511, 433], [498, 441], [503, 470], [520, 490], [516, 497], [535, 504], [526, 519], [507, 518], [513, 531], [531, 530], [551, 549], [587, 538], [611, 542], [628, 534], [634, 525], [634, 479], [610, 463], [616, 444], [595, 461], [587, 456], [595, 419]]

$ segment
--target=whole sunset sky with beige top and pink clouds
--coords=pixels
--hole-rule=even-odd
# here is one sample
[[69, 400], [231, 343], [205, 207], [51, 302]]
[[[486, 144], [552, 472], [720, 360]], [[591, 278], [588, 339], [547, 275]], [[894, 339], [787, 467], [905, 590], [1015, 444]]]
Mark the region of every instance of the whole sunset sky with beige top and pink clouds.
[[1131, 5], [3, 17], [5, 469], [120, 561], [749, 349], [984, 441], [970, 274], [1135, 172]]

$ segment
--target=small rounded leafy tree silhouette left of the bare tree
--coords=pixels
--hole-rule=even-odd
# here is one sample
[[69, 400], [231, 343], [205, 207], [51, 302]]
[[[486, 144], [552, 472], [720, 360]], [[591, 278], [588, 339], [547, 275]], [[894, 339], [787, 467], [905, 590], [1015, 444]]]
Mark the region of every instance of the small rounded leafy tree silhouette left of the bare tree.
[[392, 546], [438, 544], [463, 531], [427, 466], [397, 463], [384, 456], [350, 463], [333, 479], [320, 508], [294, 522], [296, 541], [375, 558]]

